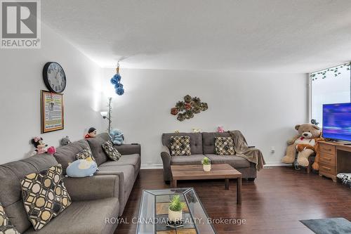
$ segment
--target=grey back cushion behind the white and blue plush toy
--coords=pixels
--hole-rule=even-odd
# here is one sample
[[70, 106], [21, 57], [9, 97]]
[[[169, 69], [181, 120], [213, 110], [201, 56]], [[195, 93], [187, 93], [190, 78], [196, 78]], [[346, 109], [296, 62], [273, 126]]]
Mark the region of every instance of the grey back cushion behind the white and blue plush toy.
[[55, 157], [58, 163], [62, 165], [64, 175], [66, 174], [68, 163], [77, 160], [77, 153], [81, 152], [81, 150], [84, 150], [85, 148], [90, 149], [88, 143], [86, 140], [80, 140], [74, 141], [68, 145], [64, 145], [56, 149], [53, 157]]

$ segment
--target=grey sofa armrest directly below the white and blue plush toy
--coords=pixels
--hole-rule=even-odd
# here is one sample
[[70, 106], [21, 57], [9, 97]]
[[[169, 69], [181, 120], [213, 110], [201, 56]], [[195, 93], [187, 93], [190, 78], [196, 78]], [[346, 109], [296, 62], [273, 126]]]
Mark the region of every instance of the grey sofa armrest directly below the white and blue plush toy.
[[119, 195], [119, 176], [117, 175], [65, 177], [63, 181], [73, 201], [97, 200]]

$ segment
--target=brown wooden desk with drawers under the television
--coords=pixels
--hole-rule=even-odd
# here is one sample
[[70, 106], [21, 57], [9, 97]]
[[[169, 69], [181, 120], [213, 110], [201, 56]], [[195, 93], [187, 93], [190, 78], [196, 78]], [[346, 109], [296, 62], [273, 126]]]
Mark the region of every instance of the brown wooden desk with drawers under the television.
[[319, 176], [337, 181], [336, 175], [351, 172], [351, 145], [336, 141], [319, 143]]

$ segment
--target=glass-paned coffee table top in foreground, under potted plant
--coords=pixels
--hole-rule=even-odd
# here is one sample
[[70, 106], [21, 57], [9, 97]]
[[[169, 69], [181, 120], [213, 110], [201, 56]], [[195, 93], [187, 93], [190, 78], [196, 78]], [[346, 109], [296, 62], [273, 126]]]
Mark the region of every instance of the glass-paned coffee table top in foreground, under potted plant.
[[[187, 206], [183, 210], [184, 226], [170, 228], [168, 204], [173, 195], [180, 195], [180, 200]], [[216, 233], [202, 206], [194, 188], [171, 188], [162, 190], [143, 190], [140, 203], [138, 234], [213, 234]]]

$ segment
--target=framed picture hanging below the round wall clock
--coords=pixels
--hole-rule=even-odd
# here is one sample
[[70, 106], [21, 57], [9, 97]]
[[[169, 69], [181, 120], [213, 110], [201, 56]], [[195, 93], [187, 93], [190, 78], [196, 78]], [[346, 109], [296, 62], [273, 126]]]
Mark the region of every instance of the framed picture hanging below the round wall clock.
[[62, 93], [41, 91], [41, 133], [64, 128]]

